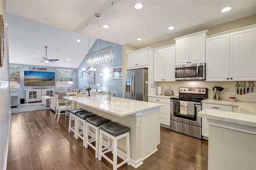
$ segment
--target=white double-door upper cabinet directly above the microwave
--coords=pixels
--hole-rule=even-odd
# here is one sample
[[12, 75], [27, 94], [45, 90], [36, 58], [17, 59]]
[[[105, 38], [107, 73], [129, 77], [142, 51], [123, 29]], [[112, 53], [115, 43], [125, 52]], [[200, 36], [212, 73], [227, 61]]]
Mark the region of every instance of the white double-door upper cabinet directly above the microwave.
[[175, 38], [176, 41], [176, 65], [204, 63], [205, 62], [205, 38], [210, 33], [208, 30]]

